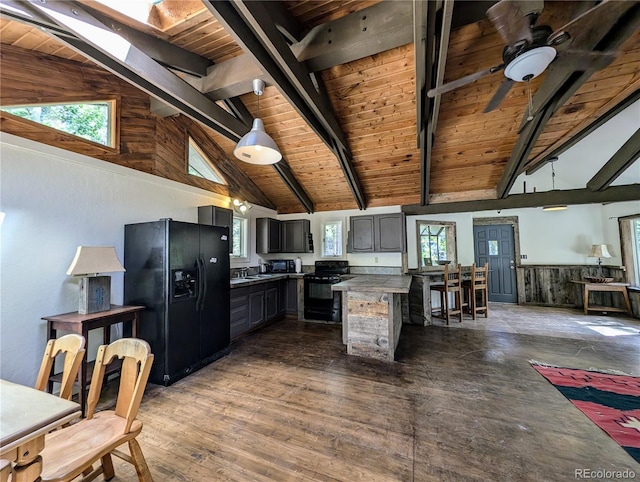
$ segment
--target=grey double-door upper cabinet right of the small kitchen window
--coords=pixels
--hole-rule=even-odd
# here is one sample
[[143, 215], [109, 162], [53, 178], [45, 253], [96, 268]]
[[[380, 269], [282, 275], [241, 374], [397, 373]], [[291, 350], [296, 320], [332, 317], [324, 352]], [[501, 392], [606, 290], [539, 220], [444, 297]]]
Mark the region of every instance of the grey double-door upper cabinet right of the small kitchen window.
[[404, 253], [406, 228], [403, 213], [352, 216], [349, 251], [352, 253]]

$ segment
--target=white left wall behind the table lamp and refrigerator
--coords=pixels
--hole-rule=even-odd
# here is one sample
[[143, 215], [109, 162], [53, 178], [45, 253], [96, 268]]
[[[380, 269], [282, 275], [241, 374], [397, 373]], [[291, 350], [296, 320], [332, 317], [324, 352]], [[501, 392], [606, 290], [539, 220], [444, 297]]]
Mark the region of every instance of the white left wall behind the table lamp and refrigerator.
[[[122, 260], [125, 224], [167, 217], [197, 222], [197, 206], [229, 204], [201, 189], [5, 133], [0, 162], [0, 376], [27, 385], [35, 383], [46, 343], [40, 318], [78, 310], [78, 282], [65, 274], [76, 246], [113, 245]], [[123, 279], [112, 274], [112, 303], [122, 304]]]

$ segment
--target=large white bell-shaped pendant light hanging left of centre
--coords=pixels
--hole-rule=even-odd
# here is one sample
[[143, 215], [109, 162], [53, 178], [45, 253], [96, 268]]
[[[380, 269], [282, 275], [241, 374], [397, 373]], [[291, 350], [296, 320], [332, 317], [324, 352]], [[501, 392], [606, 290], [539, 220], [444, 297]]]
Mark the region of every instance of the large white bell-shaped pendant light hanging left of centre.
[[[258, 115], [260, 115], [260, 96], [263, 92], [264, 82], [261, 79], [254, 79], [253, 93], [258, 96]], [[238, 142], [233, 155], [250, 164], [275, 164], [282, 159], [280, 149], [264, 131], [264, 123], [258, 117], [253, 120], [251, 130]]]

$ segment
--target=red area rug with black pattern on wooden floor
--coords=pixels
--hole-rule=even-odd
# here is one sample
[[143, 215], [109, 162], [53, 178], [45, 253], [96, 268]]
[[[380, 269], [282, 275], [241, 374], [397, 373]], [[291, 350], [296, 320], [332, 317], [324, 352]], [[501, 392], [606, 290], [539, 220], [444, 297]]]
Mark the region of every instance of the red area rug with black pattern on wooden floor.
[[531, 365], [640, 463], [640, 378]]

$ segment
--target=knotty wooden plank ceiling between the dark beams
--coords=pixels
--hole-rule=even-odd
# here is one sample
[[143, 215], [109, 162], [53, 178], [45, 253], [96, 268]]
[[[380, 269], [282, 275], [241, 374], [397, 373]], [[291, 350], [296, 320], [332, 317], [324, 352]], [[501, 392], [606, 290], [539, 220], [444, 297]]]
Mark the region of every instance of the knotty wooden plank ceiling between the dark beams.
[[[303, 0], [285, 1], [282, 5], [286, 16], [297, 23], [298, 33], [305, 33], [327, 22], [368, 12], [365, 9], [377, 3], [375, 0]], [[441, 3], [429, 2], [429, 8], [441, 7]], [[472, 7], [470, 3], [455, 3], [444, 82], [501, 63], [503, 39], [483, 14], [474, 11], [478, 9], [477, 5]], [[486, 5], [493, 2], [478, 3], [485, 4], [484, 11]], [[638, 2], [628, 3], [633, 4], [630, 9], [632, 12], [635, 9], [637, 17]], [[275, 3], [269, 4], [273, 9]], [[546, 2], [537, 24], [559, 28], [576, 15], [575, 4]], [[164, 0], [154, 7], [151, 23], [155, 26], [133, 21], [96, 2], [85, 1], [79, 5], [94, 7], [101, 14], [193, 52], [212, 64], [224, 65], [245, 54], [230, 32], [199, 1]], [[413, 31], [412, 25], [406, 28]], [[439, 38], [440, 32], [429, 34]], [[76, 62], [91, 62], [86, 55], [77, 53], [43, 30], [5, 16], [0, 19], [0, 39], [2, 44]], [[554, 149], [637, 93], [640, 88], [640, 30], [636, 28], [616, 51], [617, 56], [610, 65], [578, 84], [575, 93], [543, 125], [525, 162], [517, 166], [518, 172], [544, 162]], [[416, 205], [421, 200], [423, 166], [417, 141], [415, 54], [411, 41], [330, 66], [318, 77], [322, 85], [320, 94], [327, 96], [346, 136], [366, 207]], [[505, 167], [523, 135], [520, 127], [527, 106], [526, 86], [517, 83], [499, 109], [482, 112], [503, 79], [502, 73], [496, 73], [441, 96], [433, 147], [428, 153], [427, 203], [500, 197], [497, 188], [501, 181], [504, 183]], [[544, 79], [544, 73], [534, 79], [534, 93]], [[287, 187], [275, 169], [236, 160], [232, 155], [233, 139], [211, 128], [206, 128], [206, 132], [279, 212], [357, 208], [353, 186], [349, 184], [335, 150], [309, 126], [268, 76], [265, 80], [268, 86], [259, 103], [257, 96], [249, 91], [250, 87], [244, 89], [239, 100], [251, 116], [263, 119], [266, 131], [280, 147], [292, 175], [311, 200], [311, 209], [300, 202], [299, 196]], [[607, 160], [603, 159], [602, 164]]]

